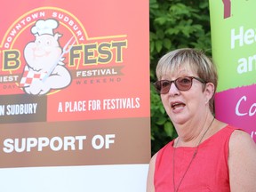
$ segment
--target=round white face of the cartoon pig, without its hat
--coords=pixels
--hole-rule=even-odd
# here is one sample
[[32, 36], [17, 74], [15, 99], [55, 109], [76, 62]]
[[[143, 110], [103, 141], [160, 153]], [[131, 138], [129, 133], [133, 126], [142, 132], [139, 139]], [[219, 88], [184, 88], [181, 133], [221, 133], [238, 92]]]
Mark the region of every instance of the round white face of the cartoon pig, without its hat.
[[30, 42], [24, 50], [24, 57], [30, 68], [36, 71], [48, 71], [56, 65], [61, 55], [58, 36], [36, 36], [35, 42]]

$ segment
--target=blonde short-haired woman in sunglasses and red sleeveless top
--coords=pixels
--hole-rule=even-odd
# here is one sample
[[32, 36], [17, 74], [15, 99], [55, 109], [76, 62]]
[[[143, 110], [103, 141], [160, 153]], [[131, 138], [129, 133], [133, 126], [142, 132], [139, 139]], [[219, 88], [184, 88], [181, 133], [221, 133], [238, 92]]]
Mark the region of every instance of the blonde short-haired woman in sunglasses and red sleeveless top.
[[178, 137], [151, 158], [147, 192], [255, 192], [254, 141], [213, 116], [212, 61], [193, 49], [176, 50], [159, 60], [156, 76]]

